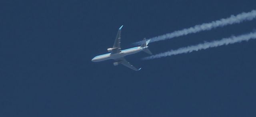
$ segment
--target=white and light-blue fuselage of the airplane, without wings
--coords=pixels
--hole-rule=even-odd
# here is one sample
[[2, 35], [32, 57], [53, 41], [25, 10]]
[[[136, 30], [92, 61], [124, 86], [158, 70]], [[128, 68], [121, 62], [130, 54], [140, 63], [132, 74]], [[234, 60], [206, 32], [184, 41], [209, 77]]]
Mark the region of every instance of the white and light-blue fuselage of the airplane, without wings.
[[[148, 46], [146, 46], [144, 48], [148, 48]], [[142, 51], [144, 48], [141, 48], [139, 46], [139, 47], [129, 48], [126, 50], [121, 50], [121, 52], [117, 53], [117, 54], [111, 54], [111, 53], [102, 54], [102, 55], [94, 57], [92, 59], [92, 61], [99, 62], [99, 61], [105, 61], [108, 59], [118, 59], [118, 58], [122, 58], [124, 56], [130, 55], [130, 54], [138, 53], [138, 52]]]

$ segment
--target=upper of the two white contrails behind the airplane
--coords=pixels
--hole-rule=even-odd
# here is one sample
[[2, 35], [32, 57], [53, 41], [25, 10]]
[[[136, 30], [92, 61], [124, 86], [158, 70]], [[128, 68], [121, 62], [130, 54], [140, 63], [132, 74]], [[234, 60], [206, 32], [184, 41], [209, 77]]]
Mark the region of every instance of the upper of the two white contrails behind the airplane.
[[[231, 15], [229, 18], [226, 18], [226, 19], [220, 19], [220, 20], [212, 21], [210, 23], [196, 25], [194, 27], [174, 31], [174, 32], [171, 32], [168, 34], [164, 34], [162, 36], [156, 36], [156, 37], [150, 38], [150, 40], [151, 40], [150, 42], [158, 42], [161, 40], [167, 40], [167, 39], [171, 39], [171, 38], [175, 38], [175, 37], [179, 37], [179, 36], [184, 36], [187, 34], [193, 34], [193, 33], [201, 32], [204, 30], [211, 30], [211, 29], [217, 28], [217, 27], [227, 26], [227, 25], [231, 25], [231, 24], [238, 24], [243, 21], [253, 20], [254, 18], [256, 18], [256, 10], [252, 10], [251, 12], [247, 12], [247, 13], [243, 12], [236, 16]], [[140, 45], [141, 43], [142, 43], [142, 41], [135, 42], [134, 44]]]

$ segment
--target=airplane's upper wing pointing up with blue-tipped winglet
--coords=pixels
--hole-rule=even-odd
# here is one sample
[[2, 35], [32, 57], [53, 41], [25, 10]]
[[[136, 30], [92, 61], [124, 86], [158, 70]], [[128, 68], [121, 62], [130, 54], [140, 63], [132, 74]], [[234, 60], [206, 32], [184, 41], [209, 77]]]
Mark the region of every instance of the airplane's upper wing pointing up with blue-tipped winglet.
[[120, 53], [121, 52], [121, 29], [124, 25], [122, 25], [116, 35], [116, 40], [114, 42], [113, 45], [113, 50], [111, 52], [111, 54], [116, 54], [116, 53]]

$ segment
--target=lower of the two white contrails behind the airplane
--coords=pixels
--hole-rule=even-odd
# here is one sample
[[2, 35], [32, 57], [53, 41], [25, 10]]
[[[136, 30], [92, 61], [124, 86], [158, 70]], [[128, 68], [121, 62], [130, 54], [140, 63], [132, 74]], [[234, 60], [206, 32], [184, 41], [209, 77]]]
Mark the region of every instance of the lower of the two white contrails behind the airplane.
[[183, 53], [188, 53], [188, 52], [193, 52], [193, 51], [198, 51], [198, 50], [205, 50], [208, 48], [214, 48], [214, 47], [228, 45], [228, 44], [234, 44], [234, 43], [238, 43], [238, 42], [242, 42], [242, 41], [248, 41], [251, 39], [256, 39], [256, 32], [251, 32], [249, 34], [244, 34], [244, 35], [240, 35], [240, 36], [232, 36], [230, 38], [223, 38], [222, 40], [215, 40], [212, 42], [205, 42], [203, 44], [198, 44], [195, 46], [179, 48], [177, 50], [170, 50], [168, 52], [156, 54], [156, 55], [149, 56], [149, 57], [142, 58], [142, 59], [146, 60], [146, 59], [162, 58], [162, 57], [172, 56], [172, 55], [176, 55], [176, 54], [183, 54]]

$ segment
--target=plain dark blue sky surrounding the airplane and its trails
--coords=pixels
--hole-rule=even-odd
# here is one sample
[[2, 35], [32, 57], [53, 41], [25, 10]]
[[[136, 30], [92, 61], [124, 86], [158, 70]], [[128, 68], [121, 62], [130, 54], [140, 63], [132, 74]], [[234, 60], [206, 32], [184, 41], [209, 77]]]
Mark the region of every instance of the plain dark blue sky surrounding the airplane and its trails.
[[[255, 0], [0, 2], [0, 117], [255, 117], [256, 40], [142, 61], [91, 59], [256, 9]], [[154, 53], [255, 30], [256, 20], [150, 44]]]

